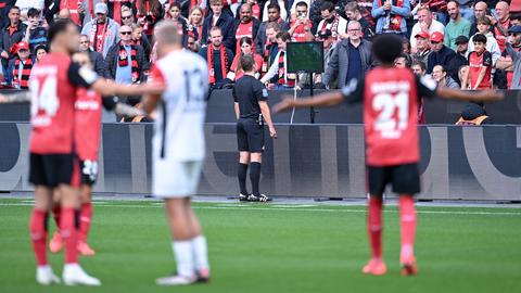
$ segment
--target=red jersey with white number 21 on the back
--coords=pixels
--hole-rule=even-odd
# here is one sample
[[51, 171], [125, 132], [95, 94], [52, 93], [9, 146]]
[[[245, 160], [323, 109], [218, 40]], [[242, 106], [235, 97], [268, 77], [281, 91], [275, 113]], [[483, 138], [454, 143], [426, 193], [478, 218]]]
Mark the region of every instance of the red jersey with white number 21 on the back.
[[418, 163], [418, 104], [434, 97], [436, 84], [407, 68], [378, 67], [350, 82], [342, 93], [350, 103], [364, 102], [366, 164], [382, 167]]

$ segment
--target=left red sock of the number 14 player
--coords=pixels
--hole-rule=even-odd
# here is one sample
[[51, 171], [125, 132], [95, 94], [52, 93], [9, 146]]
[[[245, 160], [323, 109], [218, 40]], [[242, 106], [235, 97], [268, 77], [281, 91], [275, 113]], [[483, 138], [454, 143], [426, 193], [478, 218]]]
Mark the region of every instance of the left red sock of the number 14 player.
[[33, 209], [30, 216], [29, 231], [33, 241], [33, 250], [35, 251], [36, 263], [38, 266], [47, 266], [47, 216], [48, 213], [39, 209]]

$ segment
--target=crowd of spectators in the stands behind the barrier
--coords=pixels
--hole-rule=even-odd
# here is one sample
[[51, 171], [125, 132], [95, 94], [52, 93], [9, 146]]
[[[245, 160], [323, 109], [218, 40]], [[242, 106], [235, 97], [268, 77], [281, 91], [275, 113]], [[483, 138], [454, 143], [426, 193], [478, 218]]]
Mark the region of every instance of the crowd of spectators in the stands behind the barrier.
[[[229, 88], [253, 54], [268, 89], [334, 89], [360, 78], [378, 61], [371, 39], [403, 38], [395, 66], [461, 89], [521, 88], [521, 13], [498, 0], [0, 0], [0, 78], [26, 89], [31, 67], [48, 51], [58, 18], [78, 25], [80, 50], [99, 75], [144, 82], [156, 59], [154, 25], [179, 27], [186, 50], [208, 63], [209, 84]], [[288, 42], [323, 41], [325, 72], [287, 73]]]

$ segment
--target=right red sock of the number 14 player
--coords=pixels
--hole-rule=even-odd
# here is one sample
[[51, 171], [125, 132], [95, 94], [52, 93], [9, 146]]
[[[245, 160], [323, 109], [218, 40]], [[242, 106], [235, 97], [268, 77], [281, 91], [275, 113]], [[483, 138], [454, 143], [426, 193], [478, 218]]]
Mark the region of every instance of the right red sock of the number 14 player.
[[77, 213], [73, 207], [62, 207], [60, 233], [65, 243], [65, 264], [78, 263]]

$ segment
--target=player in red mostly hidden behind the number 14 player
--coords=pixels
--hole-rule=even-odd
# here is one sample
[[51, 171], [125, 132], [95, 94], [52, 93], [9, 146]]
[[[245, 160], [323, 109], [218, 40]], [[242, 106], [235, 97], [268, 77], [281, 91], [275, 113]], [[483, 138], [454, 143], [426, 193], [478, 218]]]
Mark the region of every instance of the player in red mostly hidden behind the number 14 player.
[[[81, 67], [94, 69], [92, 62], [87, 52], [76, 52], [73, 61]], [[78, 230], [78, 252], [81, 255], [92, 256], [94, 250], [87, 243], [92, 221], [92, 187], [98, 177], [98, 151], [101, 136], [101, 116], [104, 107], [107, 111], [114, 111], [116, 115], [124, 117], [135, 117], [143, 113], [130, 105], [117, 103], [112, 98], [102, 99], [102, 97], [86, 88], [78, 88], [76, 91], [77, 100], [75, 103], [75, 125], [74, 125], [74, 143], [76, 155], [79, 158], [79, 171], [81, 177], [81, 186], [79, 188], [79, 230]], [[52, 209], [52, 215], [60, 224], [60, 193], [54, 193], [54, 202], [56, 203]], [[58, 253], [63, 247], [63, 240], [58, 229], [49, 242], [49, 250]]]

